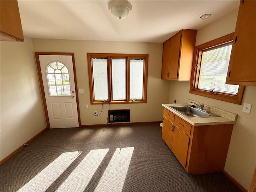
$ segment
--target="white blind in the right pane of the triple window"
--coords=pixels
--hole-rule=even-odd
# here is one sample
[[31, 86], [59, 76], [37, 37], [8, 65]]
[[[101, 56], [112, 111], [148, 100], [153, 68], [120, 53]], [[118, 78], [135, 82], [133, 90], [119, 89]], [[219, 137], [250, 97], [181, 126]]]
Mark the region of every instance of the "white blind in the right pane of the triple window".
[[143, 98], [144, 59], [130, 60], [130, 100]]

